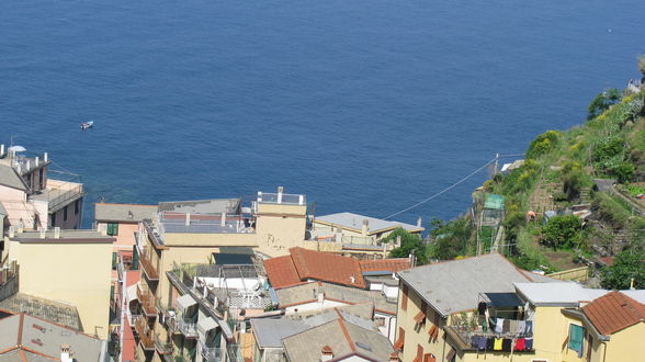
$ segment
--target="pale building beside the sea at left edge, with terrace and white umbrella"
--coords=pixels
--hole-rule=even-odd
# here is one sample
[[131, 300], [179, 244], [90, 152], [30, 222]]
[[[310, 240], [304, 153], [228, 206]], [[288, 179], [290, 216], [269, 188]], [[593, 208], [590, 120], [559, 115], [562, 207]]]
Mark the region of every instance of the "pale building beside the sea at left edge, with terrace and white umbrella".
[[[20, 146], [16, 146], [20, 147]], [[77, 229], [82, 220], [86, 195], [79, 177], [59, 172], [69, 180], [50, 179], [47, 152], [33, 158], [20, 155], [24, 149], [0, 145], [0, 203], [5, 223], [16, 229], [41, 227]]]

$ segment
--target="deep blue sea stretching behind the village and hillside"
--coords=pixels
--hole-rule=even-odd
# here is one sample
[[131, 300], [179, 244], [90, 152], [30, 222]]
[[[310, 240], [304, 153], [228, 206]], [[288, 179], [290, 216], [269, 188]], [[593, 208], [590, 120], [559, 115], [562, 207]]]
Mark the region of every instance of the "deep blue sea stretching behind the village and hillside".
[[[638, 76], [643, 0], [4, 0], [0, 142], [109, 202], [383, 217]], [[80, 123], [94, 120], [93, 131]], [[463, 213], [482, 172], [397, 218]]]

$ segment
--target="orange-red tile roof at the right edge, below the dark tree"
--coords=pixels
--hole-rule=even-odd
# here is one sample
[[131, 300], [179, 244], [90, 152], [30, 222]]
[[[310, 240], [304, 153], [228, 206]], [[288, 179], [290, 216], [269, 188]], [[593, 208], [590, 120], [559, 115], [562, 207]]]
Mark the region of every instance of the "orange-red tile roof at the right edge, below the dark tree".
[[582, 313], [606, 336], [645, 321], [645, 305], [618, 291], [584, 306]]

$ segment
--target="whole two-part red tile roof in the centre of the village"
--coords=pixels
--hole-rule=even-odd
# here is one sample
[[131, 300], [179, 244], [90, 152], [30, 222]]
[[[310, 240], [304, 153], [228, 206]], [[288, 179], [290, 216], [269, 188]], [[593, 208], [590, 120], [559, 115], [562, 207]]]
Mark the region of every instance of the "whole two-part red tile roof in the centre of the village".
[[353, 258], [303, 248], [291, 248], [288, 251], [291, 256], [264, 260], [269, 282], [275, 289], [299, 284], [309, 279], [366, 287], [359, 261]]

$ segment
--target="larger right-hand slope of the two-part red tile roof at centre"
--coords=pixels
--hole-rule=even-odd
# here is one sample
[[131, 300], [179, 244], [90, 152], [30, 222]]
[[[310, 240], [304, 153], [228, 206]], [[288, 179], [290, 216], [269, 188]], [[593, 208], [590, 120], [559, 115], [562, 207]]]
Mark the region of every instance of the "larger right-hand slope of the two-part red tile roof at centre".
[[357, 259], [303, 248], [291, 248], [288, 251], [301, 280], [314, 279], [335, 284], [365, 287], [365, 281]]

